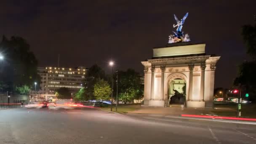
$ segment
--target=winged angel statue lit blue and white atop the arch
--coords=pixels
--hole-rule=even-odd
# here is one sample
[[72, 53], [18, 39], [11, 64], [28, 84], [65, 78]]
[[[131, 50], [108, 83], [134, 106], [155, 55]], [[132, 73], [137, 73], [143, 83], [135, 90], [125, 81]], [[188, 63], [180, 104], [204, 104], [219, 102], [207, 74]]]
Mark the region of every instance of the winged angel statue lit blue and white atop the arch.
[[179, 42], [189, 42], [190, 38], [189, 35], [186, 34], [184, 35], [184, 32], [181, 31], [183, 24], [187, 18], [187, 16], [189, 15], [189, 13], [186, 13], [185, 16], [179, 20], [177, 18], [177, 16], [174, 14], [174, 18], [177, 22], [177, 24], [173, 24], [173, 27], [177, 27], [176, 32], [173, 32], [174, 35], [170, 35], [169, 36], [169, 42], [168, 43], [179, 43]]

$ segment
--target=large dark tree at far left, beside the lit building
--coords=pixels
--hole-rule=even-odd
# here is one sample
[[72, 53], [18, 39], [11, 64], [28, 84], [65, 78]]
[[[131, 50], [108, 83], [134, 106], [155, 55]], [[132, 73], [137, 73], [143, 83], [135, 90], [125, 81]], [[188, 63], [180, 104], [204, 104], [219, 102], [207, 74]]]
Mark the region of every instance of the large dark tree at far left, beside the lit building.
[[4, 91], [13, 91], [22, 85], [32, 87], [35, 81], [40, 84], [40, 76], [37, 75], [37, 59], [30, 51], [26, 40], [14, 36], [8, 40], [3, 36], [0, 51], [5, 56], [1, 64], [0, 80], [8, 85]]

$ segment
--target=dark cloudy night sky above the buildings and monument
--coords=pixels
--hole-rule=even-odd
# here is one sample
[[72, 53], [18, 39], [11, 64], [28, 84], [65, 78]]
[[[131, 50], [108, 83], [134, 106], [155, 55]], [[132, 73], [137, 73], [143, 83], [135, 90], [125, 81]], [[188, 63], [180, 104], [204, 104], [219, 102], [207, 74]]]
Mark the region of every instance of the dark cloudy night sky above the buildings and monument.
[[[5, 1], [5, 2], [3, 2]], [[253, 24], [256, 0], [1, 0], [0, 35], [24, 37], [39, 66], [91, 67], [143, 72], [152, 48], [165, 46], [179, 19], [206, 53], [221, 56], [215, 87], [229, 88], [245, 59], [241, 27]]]

